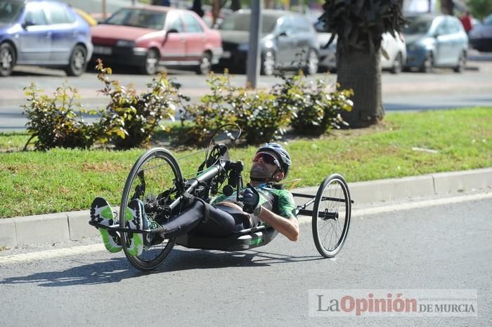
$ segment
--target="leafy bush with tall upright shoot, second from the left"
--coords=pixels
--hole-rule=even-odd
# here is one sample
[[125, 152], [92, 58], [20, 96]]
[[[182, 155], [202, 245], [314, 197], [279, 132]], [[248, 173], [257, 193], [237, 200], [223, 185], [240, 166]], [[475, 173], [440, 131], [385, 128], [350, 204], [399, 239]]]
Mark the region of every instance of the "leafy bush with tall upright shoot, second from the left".
[[189, 98], [179, 93], [180, 84], [159, 74], [148, 84], [150, 91], [136, 94], [133, 85], [121, 86], [119, 81], [110, 80], [111, 68], [103, 67], [101, 60], [96, 69], [98, 80], [105, 84], [100, 90], [110, 97], [110, 103], [101, 112], [98, 133], [101, 142], [111, 142], [117, 148], [139, 147], [150, 140], [163, 119], [174, 121], [176, 107], [182, 107], [182, 100]]

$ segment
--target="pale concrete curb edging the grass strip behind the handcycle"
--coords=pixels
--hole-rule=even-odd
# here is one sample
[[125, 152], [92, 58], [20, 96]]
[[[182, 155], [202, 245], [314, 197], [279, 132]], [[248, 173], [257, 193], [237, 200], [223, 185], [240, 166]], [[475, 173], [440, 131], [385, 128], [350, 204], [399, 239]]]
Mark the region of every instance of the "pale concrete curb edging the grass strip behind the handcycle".
[[[349, 183], [351, 199], [355, 203], [391, 202], [491, 188], [492, 168]], [[306, 194], [316, 194], [317, 191], [318, 186], [292, 190]], [[77, 241], [98, 236], [98, 230], [89, 225], [88, 220], [89, 210], [1, 219], [0, 247]]]

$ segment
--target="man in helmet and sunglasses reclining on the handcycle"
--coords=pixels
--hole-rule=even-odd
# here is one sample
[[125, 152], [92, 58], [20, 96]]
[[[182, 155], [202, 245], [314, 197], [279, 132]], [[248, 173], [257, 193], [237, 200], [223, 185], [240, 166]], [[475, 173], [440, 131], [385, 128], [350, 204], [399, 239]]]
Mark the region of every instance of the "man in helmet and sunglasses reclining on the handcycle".
[[[264, 223], [287, 236], [291, 241], [297, 241], [299, 222], [295, 215], [294, 198], [287, 190], [273, 187], [273, 183], [287, 177], [291, 164], [290, 155], [282, 145], [267, 143], [257, 150], [250, 169], [250, 185], [257, 192], [251, 188], [243, 189], [240, 201], [237, 201], [235, 193], [230, 196], [224, 194], [218, 196], [212, 204], [195, 200], [182, 213], [171, 217], [162, 226], [148, 218], [145, 215], [143, 202], [135, 199], [129, 203], [125, 212], [128, 224], [126, 227], [160, 228], [164, 238], [176, 237], [188, 232], [221, 237]], [[243, 211], [245, 206], [253, 209], [251, 214]], [[100, 197], [96, 198], [91, 206], [91, 220], [110, 226], [113, 219], [109, 203]], [[108, 251], [121, 251], [121, 240], [117, 232], [109, 232], [106, 229], [99, 229], [99, 231]], [[128, 252], [131, 255], [140, 255], [143, 248], [150, 246], [151, 242], [152, 239], [148, 239], [148, 236], [134, 233], [127, 242]]]

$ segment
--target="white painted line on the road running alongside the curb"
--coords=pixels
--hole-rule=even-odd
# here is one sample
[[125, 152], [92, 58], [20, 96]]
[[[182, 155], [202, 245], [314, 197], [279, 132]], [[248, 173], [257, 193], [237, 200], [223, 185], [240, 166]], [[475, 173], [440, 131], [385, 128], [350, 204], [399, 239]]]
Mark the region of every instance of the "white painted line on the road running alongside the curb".
[[[352, 218], [363, 215], [375, 215], [377, 213], [389, 213], [392, 211], [403, 211], [414, 208], [425, 208], [427, 206], [441, 206], [443, 204], [460, 203], [465, 201], [475, 201], [482, 199], [491, 199], [492, 192], [481, 194], [470, 194], [463, 196], [453, 196], [444, 199], [423, 200], [399, 204], [388, 204], [387, 206], [377, 206], [373, 208], [361, 208], [352, 210]], [[299, 223], [311, 223], [311, 217], [299, 216]], [[57, 248], [54, 250], [39, 251], [33, 253], [21, 253], [17, 255], [0, 256], [0, 265], [6, 265], [18, 262], [27, 262], [32, 260], [46, 260], [50, 258], [60, 258], [69, 255], [82, 255], [98, 251], [105, 251], [103, 243], [91, 244], [87, 246], [74, 246], [71, 248]]]

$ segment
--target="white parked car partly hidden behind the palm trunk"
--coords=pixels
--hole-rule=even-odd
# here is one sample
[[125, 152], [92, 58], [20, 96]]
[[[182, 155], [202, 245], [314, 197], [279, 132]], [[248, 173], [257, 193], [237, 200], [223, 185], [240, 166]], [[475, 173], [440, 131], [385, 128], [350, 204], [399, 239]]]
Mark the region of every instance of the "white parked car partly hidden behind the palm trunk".
[[[324, 32], [323, 22], [316, 22], [314, 27], [318, 32], [320, 44], [320, 68], [334, 71], [337, 69], [337, 37], [335, 36], [328, 48], [324, 48], [330, 40], [331, 33]], [[406, 45], [403, 34], [396, 31], [394, 34], [395, 36], [389, 32], [382, 34], [381, 47], [386, 51], [387, 56], [381, 55], [381, 68], [393, 74], [399, 74], [406, 61]]]

